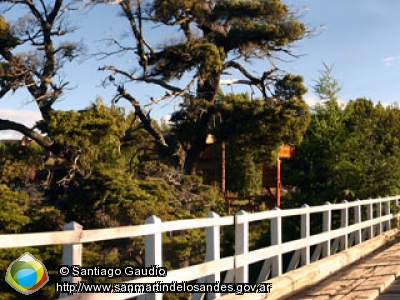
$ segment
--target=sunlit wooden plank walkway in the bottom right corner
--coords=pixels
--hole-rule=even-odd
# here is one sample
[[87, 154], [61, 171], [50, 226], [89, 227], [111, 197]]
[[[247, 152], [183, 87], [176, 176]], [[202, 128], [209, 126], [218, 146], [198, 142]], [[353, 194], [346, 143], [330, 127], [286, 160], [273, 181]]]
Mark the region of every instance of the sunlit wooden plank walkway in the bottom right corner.
[[[400, 300], [400, 238], [285, 300]], [[283, 299], [282, 299], [283, 300]]]

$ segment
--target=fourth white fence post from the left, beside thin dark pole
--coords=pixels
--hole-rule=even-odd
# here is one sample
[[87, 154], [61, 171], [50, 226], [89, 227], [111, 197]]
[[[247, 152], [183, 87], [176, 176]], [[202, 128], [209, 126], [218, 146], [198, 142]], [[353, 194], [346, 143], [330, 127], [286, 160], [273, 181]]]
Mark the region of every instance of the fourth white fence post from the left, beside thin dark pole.
[[[249, 222], [247, 220], [239, 224], [238, 218], [245, 216], [247, 213], [244, 210], [237, 212], [235, 216], [235, 256], [249, 252]], [[235, 283], [249, 282], [249, 265], [236, 268], [235, 260]]]

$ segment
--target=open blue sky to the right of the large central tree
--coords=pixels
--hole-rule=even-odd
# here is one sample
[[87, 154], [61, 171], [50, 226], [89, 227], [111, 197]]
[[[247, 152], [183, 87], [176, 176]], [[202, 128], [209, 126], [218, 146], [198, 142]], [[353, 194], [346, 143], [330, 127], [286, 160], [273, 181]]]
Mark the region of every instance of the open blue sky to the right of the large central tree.
[[297, 43], [298, 53], [304, 56], [287, 64], [288, 71], [302, 74], [312, 90], [324, 61], [334, 64], [333, 75], [342, 86], [340, 98], [366, 97], [388, 104], [400, 100], [400, 1], [287, 2], [308, 7], [301, 20], [310, 27], [325, 28]]

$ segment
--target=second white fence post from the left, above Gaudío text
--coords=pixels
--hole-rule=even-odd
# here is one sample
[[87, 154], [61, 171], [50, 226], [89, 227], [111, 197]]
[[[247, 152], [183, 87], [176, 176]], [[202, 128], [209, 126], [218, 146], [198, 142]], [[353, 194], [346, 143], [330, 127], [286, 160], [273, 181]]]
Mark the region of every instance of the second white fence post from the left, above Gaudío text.
[[[160, 218], [156, 216], [150, 216], [146, 219], [145, 224], [161, 225]], [[162, 267], [162, 233], [156, 232], [151, 235], [146, 235], [145, 238], [145, 266], [151, 267], [153, 265]], [[161, 293], [158, 294], [147, 294], [146, 300], [162, 300], [163, 296]]]

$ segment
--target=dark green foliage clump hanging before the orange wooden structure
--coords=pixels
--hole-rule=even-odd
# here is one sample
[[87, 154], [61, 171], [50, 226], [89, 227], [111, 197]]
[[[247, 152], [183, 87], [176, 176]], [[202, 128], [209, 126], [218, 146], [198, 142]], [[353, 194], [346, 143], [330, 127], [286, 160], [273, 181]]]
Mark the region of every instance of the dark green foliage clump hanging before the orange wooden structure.
[[287, 95], [289, 100], [282, 98], [273, 107], [248, 95], [221, 95], [213, 133], [226, 143], [228, 190], [258, 193], [262, 163], [274, 164], [282, 143], [301, 141], [309, 122], [301, 95]]

